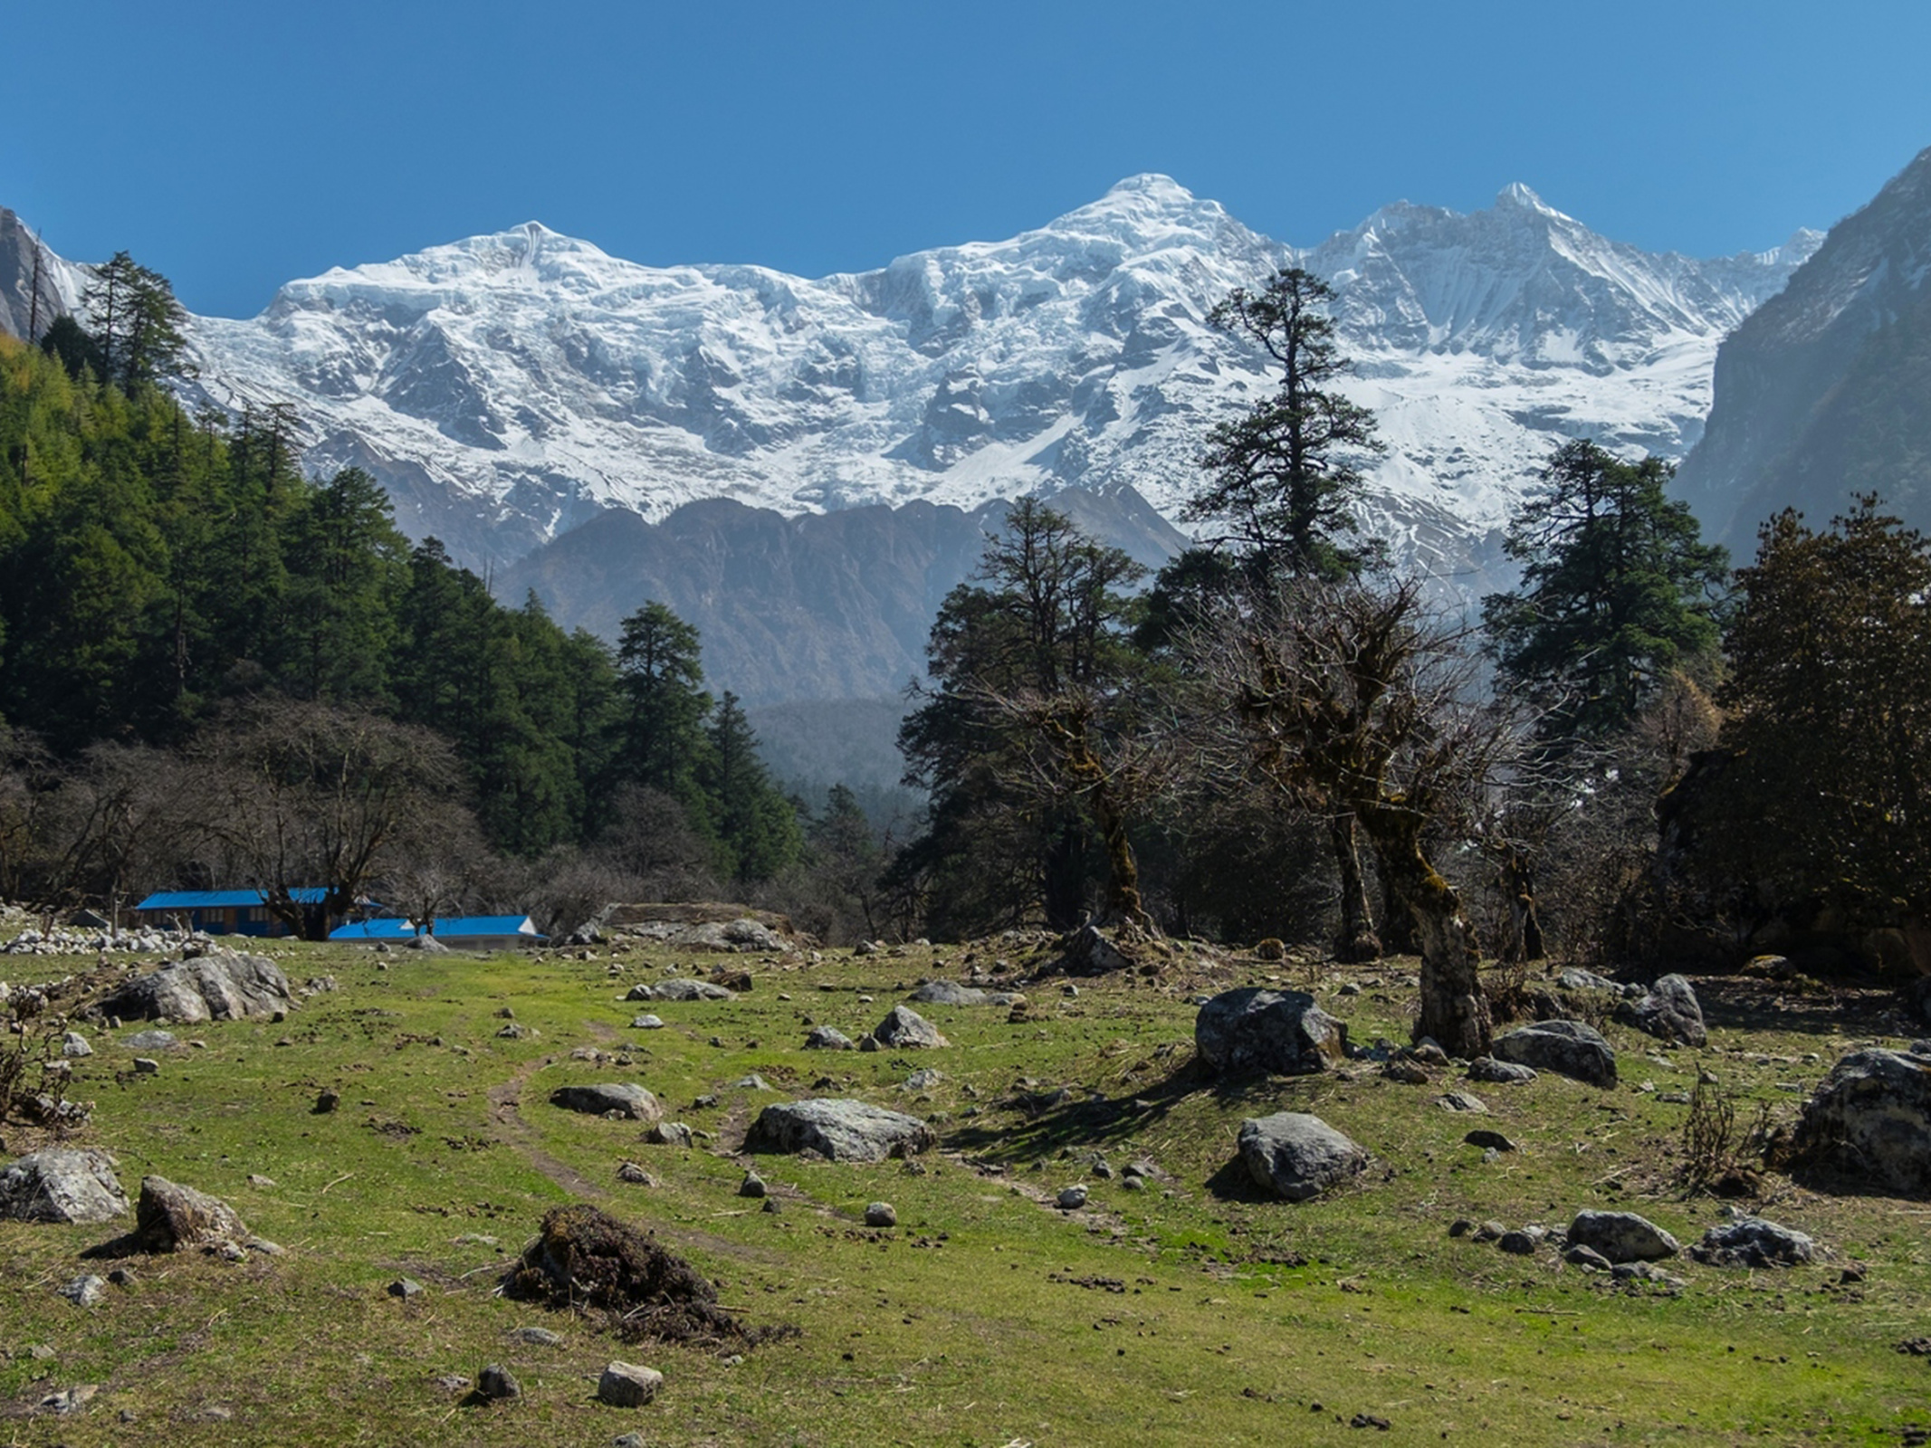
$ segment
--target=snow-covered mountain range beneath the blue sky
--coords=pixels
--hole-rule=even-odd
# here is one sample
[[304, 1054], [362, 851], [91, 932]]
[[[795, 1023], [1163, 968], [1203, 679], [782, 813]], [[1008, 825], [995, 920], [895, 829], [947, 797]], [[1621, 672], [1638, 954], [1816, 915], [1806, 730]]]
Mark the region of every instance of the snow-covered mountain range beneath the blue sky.
[[1010, 241], [821, 280], [641, 266], [531, 222], [290, 282], [189, 336], [209, 402], [292, 402], [313, 471], [367, 467], [409, 533], [473, 562], [701, 498], [803, 514], [1130, 485], [1176, 517], [1205, 429], [1273, 384], [1207, 313], [1301, 265], [1338, 290], [1346, 390], [1390, 444], [1367, 525], [1460, 571], [1558, 442], [1680, 458], [1717, 342], [1819, 239], [1651, 255], [1514, 185], [1298, 251], [1137, 176]]

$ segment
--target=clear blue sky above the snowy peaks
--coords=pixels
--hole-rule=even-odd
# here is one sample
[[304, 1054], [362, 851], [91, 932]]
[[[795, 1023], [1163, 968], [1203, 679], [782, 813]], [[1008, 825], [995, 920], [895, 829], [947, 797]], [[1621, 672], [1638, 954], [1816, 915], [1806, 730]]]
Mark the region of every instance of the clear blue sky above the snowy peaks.
[[531, 218], [861, 270], [1149, 170], [1296, 245], [1527, 181], [1719, 255], [1931, 145], [1923, 0], [15, 0], [0, 37], [0, 205], [232, 317]]

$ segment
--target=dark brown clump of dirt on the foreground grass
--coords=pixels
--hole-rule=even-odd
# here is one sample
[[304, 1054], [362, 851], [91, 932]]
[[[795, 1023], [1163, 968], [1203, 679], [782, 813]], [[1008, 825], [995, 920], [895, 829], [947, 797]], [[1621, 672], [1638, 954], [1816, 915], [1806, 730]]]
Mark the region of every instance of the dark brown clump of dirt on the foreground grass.
[[595, 1207], [552, 1207], [537, 1239], [504, 1278], [504, 1294], [570, 1309], [626, 1342], [730, 1342], [798, 1336], [796, 1326], [747, 1328], [718, 1307], [718, 1290], [657, 1239]]

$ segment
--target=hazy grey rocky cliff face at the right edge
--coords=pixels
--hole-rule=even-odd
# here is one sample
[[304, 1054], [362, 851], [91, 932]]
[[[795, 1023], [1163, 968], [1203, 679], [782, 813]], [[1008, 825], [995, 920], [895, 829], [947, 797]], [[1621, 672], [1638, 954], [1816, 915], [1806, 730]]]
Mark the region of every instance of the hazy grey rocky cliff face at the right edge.
[[1931, 527], [1931, 151], [1846, 216], [1717, 351], [1678, 487], [1740, 560], [1773, 512], [1827, 523], [1860, 492]]

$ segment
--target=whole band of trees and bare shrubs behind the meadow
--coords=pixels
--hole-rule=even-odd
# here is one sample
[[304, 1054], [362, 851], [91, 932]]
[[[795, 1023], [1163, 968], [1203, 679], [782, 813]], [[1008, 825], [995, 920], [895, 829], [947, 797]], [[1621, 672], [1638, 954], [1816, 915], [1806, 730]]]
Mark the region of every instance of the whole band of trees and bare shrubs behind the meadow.
[[1468, 1054], [1508, 1004], [1483, 961], [1916, 960], [1923, 539], [1871, 498], [1732, 571], [1666, 463], [1580, 440], [1464, 618], [1357, 529], [1379, 442], [1330, 303], [1284, 270], [1215, 311], [1278, 388], [1201, 438], [1201, 541], [1159, 575], [1010, 508], [910, 699], [925, 815], [881, 838], [850, 790], [778, 788], [672, 610], [566, 633], [369, 475], [305, 479], [286, 409], [183, 411], [178, 307], [116, 257], [85, 317], [0, 342], [0, 894], [1278, 936], [1419, 954], [1419, 1029]]

